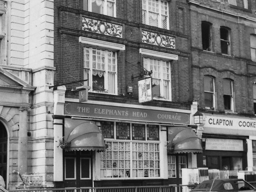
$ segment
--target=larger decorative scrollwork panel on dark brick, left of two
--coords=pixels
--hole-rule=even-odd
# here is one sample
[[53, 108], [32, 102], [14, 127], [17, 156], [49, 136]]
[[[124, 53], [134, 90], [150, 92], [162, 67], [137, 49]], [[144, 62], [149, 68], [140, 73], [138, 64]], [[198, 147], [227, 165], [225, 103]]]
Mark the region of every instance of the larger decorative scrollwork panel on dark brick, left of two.
[[82, 29], [89, 32], [122, 38], [122, 26], [105, 21], [82, 18]]

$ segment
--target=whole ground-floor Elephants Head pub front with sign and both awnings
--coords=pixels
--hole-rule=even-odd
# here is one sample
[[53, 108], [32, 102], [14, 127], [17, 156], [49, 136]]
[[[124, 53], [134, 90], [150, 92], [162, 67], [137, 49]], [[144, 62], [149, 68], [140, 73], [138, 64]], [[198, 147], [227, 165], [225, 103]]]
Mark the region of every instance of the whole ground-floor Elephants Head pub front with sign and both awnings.
[[[191, 110], [65, 98], [54, 90], [55, 186], [112, 187], [181, 184], [181, 169], [196, 167], [201, 139]], [[143, 107], [143, 108], [142, 108]], [[64, 175], [64, 177], [62, 177]]]

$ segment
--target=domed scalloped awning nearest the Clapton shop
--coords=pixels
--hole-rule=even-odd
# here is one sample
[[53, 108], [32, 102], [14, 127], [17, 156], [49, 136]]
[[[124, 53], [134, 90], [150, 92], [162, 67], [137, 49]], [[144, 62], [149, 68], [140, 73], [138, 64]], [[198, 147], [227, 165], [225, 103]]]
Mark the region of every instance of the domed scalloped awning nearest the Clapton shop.
[[167, 153], [203, 153], [201, 139], [190, 127], [168, 127]]

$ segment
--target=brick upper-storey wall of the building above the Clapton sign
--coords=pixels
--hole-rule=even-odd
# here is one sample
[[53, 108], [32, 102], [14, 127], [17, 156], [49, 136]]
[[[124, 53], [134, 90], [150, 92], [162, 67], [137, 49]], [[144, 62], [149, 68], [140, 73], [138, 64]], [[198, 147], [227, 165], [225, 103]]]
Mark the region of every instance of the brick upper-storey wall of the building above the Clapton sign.
[[[204, 3], [195, 7], [190, 7], [191, 22], [191, 42], [192, 42], [192, 74], [194, 99], [199, 100], [199, 107], [204, 110], [204, 75], [214, 76], [215, 82], [215, 101], [217, 111], [224, 111], [222, 78], [233, 80], [234, 86], [234, 112], [243, 114], [253, 114], [252, 85], [251, 75], [255, 74], [255, 62], [251, 60], [250, 34], [255, 34], [255, 1], [248, 1], [248, 10], [241, 10], [229, 5], [224, 1], [223, 4], [216, 1], [196, 1]], [[207, 8], [206, 8], [207, 7]], [[210, 12], [208, 8], [219, 11]], [[230, 14], [222, 12], [227, 10]], [[207, 10], [207, 12], [205, 11]], [[250, 21], [244, 17], [237, 17], [232, 12], [239, 12], [248, 15]], [[202, 48], [201, 23], [207, 21], [212, 24], [211, 41], [212, 51], [204, 51]], [[230, 29], [230, 54], [221, 53], [220, 46], [220, 27], [225, 26]], [[248, 70], [248, 66], [252, 70]], [[249, 82], [249, 83], [248, 83]], [[251, 98], [251, 99], [248, 99]]]

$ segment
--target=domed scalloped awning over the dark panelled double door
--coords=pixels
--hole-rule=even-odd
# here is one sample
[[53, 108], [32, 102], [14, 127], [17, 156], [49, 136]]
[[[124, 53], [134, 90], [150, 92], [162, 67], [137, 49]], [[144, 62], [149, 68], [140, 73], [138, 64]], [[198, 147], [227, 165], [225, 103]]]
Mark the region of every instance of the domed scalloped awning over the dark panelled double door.
[[104, 151], [104, 136], [99, 127], [89, 121], [65, 118], [65, 140], [70, 141], [66, 151]]

